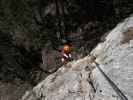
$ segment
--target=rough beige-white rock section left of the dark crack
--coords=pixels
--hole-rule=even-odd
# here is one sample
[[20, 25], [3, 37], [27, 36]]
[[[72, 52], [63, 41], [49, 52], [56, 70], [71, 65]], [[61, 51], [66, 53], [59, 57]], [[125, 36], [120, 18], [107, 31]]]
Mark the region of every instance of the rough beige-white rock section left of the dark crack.
[[21, 100], [91, 100], [94, 89], [89, 83], [92, 66], [89, 57], [73, 61], [48, 76]]

